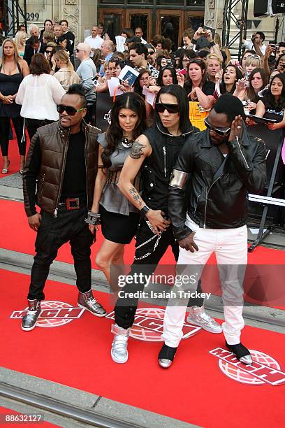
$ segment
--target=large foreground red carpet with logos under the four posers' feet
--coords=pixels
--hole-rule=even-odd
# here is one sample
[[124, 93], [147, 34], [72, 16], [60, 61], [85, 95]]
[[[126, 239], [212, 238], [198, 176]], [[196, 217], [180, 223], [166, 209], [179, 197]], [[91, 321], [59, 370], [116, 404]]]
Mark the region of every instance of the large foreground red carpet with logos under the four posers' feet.
[[[157, 364], [161, 343], [144, 343], [132, 338], [129, 362], [115, 364], [110, 357], [110, 319], [83, 313], [80, 319], [61, 327], [22, 331], [20, 318], [10, 317], [13, 311], [26, 307], [29, 276], [8, 271], [1, 271], [0, 275], [1, 343], [6, 344], [0, 348], [1, 366], [203, 427], [282, 425], [285, 384], [273, 386], [268, 381], [284, 382], [285, 373], [277, 370], [268, 373], [265, 358], [272, 357], [279, 363], [280, 370], [285, 370], [284, 335], [253, 327], [245, 327], [242, 331], [245, 345], [268, 355], [259, 353], [259, 361], [262, 358], [265, 366], [257, 363], [255, 369], [251, 366], [254, 376], [244, 373], [243, 365], [243, 370], [238, 372], [240, 380], [248, 379], [251, 385], [233, 380], [221, 371], [219, 364], [221, 368], [226, 367], [229, 376], [237, 373], [233, 364], [223, 365], [217, 356], [210, 354], [211, 350], [224, 348], [224, 336], [205, 331], [182, 341], [169, 370]], [[45, 301], [75, 306], [77, 290], [71, 285], [47, 281], [45, 294]], [[108, 311], [112, 311], [108, 295], [97, 292], [96, 296]], [[58, 318], [59, 313], [61, 318]], [[48, 320], [57, 315], [59, 323], [63, 319], [66, 321], [66, 313], [64, 309], [45, 311]], [[73, 310], [73, 315], [78, 315], [78, 310]], [[159, 323], [161, 321], [156, 320], [155, 328]], [[153, 324], [145, 324], [145, 331]], [[278, 369], [277, 363], [271, 362], [271, 367]], [[261, 371], [265, 383], [258, 378]]]

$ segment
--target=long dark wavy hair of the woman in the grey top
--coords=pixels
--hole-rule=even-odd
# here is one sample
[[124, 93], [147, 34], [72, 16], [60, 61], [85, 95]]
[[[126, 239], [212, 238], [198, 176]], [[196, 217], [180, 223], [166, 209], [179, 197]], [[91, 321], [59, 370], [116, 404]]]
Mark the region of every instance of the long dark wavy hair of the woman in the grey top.
[[105, 138], [107, 141], [107, 147], [102, 152], [102, 162], [106, 168], [111, 166], [110, 156], [115, 152], [118, 143], [123, 138], [123, 130], [119, 126], [119, 111], [122, 108], [129, 108], [138, 115], [138, 122], [136, 128], [133, 130], [133, 140], [138, 138], [143, 131], [145, 131], [146, 124], [146, 113], [145, 113], [145, 101], [140, 95], [135, 92], [126, 92], [116, 98], [115, 103], [111, 110], [111, 124], [105, 131]]

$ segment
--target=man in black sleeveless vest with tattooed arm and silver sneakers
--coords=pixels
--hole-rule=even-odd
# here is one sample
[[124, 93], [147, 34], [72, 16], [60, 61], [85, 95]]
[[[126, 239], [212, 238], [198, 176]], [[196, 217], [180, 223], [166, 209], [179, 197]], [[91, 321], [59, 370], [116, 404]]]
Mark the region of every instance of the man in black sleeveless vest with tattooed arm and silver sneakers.
[[[119, 189], [140, 210], [141, 220], [136, 234], [136, 255], [130, 275], [143, 273], [151, 275], [170, 245], [175, 259], [179, 247], [168, 220], [167, 200], [170, 174], [175, 159], [187, 138], [194, 132], [189, 121], [189, 101], [179, 85], [163, 87], [156, 99], [156, 125], [147, 129], [138, 141], [133, 143], [130, 156], [124, 163], [119, 178]], [[142, 171], [142, 197], [131, 184]], [[143, 290], [145, 283], [132, 283], [124, 292]], [[190, 301], [188, 321], [212, 333], [221, 333], [220, 325], [205, 313], [203, 299]], [[195, 305], [195, 306], [193, 306]], [[117, 363], [128, 359], [127, 341], [129, 329], [134, 322], [138, 299], [117, 300], [115, 306], [115, 334], [111, 356]]]

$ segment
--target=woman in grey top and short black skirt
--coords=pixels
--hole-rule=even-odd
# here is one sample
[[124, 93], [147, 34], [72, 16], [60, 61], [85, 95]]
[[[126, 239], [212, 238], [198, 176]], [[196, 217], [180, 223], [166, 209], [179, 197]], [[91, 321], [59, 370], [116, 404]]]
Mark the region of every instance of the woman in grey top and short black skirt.
[[[117, 97], [112, 106], [111, 124], [99, 134], [98, 173], [96, 176], [93, 218], [100, 213], [105, 238], [96, 256], [96, 264], [110, 283], [110, 265], [124, 265], [124, 245], [131, 242], [138, 227], [138, 210], [117, 187], [124, 161], [133, 141], [146, 129], [145, 101], [134, 92]], [[139, 190], [139, 177], [133, 185]], [[98, 216], [99, 217], [99, 216]], [[96, 226], [89, 224], [94, 233]]]

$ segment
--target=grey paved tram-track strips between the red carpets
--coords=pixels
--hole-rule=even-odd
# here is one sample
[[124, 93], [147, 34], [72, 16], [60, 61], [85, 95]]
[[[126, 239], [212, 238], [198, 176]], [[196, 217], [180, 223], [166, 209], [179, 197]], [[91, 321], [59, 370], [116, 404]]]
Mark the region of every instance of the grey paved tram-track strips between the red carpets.
[[[0, 178], [0, 199], [23, 200], [22, 176], [19, 173]], [[272, 235], [268, 245], [284, 248], [285, 237], [280, 234]], [[32, 262], [32, 255], [6, 250], [1, 248], [0, 243], [1, 269], [29, 274]], [[54, 262], [49, 278], [75, 286], [75, 273], [71, 264]], [[109, 292], [108, 283], [101, 271], [92, 269], [92, 282], [96, 283], [96, 290]], [[163, 285], [161, 287], [163, 289]], [[210, 315], [223, 319], [221, 298], [211, 297], [206, 308]], [[244, 319], [252, 327], [285, 333], [285, 311], [244, 306]], [[41, 413], [46, 422], [67, 428], [196, 426], [1, 366], [0, 404], [20, 413]]]

